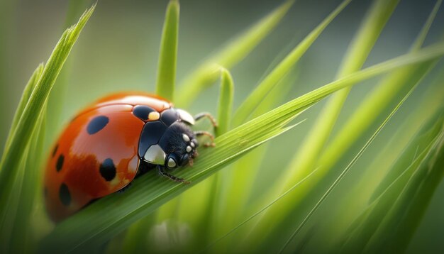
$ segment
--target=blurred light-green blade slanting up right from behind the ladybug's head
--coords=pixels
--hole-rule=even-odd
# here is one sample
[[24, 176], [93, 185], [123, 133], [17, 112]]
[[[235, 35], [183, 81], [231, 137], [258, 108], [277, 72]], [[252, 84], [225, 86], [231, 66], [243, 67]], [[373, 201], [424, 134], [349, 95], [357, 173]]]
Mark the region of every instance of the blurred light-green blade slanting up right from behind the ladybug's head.
[[203, 89], [216, 81], [219, 75], [218, 66], [229, 70], [243, 60], [277, 26], [293, 3], [294, 0], [286, 1], [185, 77], [175, 96], [175, 103], [186, 108]]

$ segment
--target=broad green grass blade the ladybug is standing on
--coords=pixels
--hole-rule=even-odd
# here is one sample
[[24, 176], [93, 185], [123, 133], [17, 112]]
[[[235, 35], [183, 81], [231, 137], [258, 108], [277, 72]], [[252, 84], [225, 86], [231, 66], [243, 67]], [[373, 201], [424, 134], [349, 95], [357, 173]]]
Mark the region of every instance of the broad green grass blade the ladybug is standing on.
[[[431, 60], [443, 54], [444, 44], [438, 44], [416, 53], [396, 57], [338, 79], [254, 118], [216, 138], [216, 148], [202, 150], [192, 170], [177, 172], [178, 177], [184, 177], [192, 181], [192, 184], [168, 182], [158, 177], [156, 172], [148, 172], [147, 175], [135, 180], [133, 188], [127, 192], [104, 197], [57, 225], [43, 241], [42, 249], [82, 250], [91, 245], [104, 243], [161, 204], [165, 204], [166, 201], [240, 158], [240, 155], [288, 131], [289, 128], [283, 128], [285, 124], [329, 94], [377, 74]], [[103, 211], [107, 212], [104, 214]]]

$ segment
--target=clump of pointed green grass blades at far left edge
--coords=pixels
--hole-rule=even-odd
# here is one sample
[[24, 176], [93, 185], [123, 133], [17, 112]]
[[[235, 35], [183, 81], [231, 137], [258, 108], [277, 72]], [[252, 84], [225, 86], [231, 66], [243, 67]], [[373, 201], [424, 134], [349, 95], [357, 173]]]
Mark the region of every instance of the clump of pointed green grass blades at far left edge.
[[[0, 193], [0, 232], [2, 248], [6, 251], [21, 247], [21, 243], [14, 244], [14, 241], [17, 240], [10, 241], [9, 237], [20, 236], [21, 233], [14, 234], [15, 231], [23, 232], [23, 228], [28, 226], [26, 222], [29, 221], [30, 208], [33, 204], [28, 198], [33, 200], [32, 194], [35, 191], [33, 186], [38, 186], [35, 183], [28, 184], [29, 181], [35, 182], [35, 176], [38, 175], [38, 166], [33, 168], [35, 172], [26, 170], [26, 165], [30, 163], [28, 157], [33, 158], [34, 155], [37, 155], [36, 158], [38, 158], [36, 152], [28, 155], [28, 149], [40, 148], [41, 150], [40, 144], [43, 143], [43, 138], [39, 136], [43, 136], [44, 132], [40, 131], [40, 126], [45, 117], [46, 101], [72, 46], [93, 11], [94, 6], [84, 13], [75, 26], [63, 33], [43, 70], [41, 65], [35, 70], [23, 92], [16, 116], [14, 116], [0, 162], [0, 184], [4, 188], [4, 191]], [[33, 133], [35, 138], [33, 138]], [[33, 163], [35, 162], [34, 160]], [[14, 223], [16, 216], [18, 223]], [[12, 228], [15, 231], [11, 236]]]

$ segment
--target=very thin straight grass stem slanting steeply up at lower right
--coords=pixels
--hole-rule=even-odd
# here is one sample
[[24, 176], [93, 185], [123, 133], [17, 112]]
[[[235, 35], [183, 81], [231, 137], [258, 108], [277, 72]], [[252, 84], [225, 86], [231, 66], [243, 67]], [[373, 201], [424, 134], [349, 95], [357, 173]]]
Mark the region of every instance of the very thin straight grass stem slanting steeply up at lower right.
[[292, 233], [292, 235], [287, 239], [287, 241], [284, 243], [284, 245], [282, 246], [282, 249], [279, 251], [279, 253], [283, 253], [285, 248], [287, 248], [287, 246], [289, 245], [289, 243], [291, 243], [294, 239], [294, 237], [296, 236], [297, 233], [299, 233], [299, 231], [301, 231], [301, 228], [303, 228], [307, 221], [309, 221], [309, 219], [311, 218], [311, 216], [313, 216], [313, 214], [316, 212], [316, 210], [319, 208], [319, 206], [321, 206], [321, 204], [323, 204], [323, 201], [325, 201], [328, 197], [328, 195], [331, 194], [331, 192], [333, 192], [333, 189], [335, 189], [336, 186], [338, 186], [339, 182], [341, 180], [343, 180], [343, 178], [345, 177], [345, 175], [347, 175], [347, 173], [350, 171], [350, 168], [353, 167], [353, 165], [355, 165], [355, 162], [361, 157], [361, 155], [365, 152], [365, 150], [367, 150], [367, 148], [370, 146], [370, 144], [373, 142], [374, 138], [376, 138], [378, 136], [378, 134], [382, 131], [382, 128], [384, 128], [384, 126], [386, 126], [386, 124], [390, 121], [390, 119], [392, 119], [392, 117], [394, 116], [394, 114], [396, 114], [396, 112], [398, 111], [398, 109], [401, 107], [402, 104], [404, 104], [404, 101], [406, 101], [407, 98], [409, 98], [410, 94], [412, 92], [414, 92], [414, 89], [417, 87], [418, 83], [412, 87], [412, 89], [406, 94], [406, 96], [404, 96], [403, 99], [401, 99], [401, 101], [399, 101], [399, 104], [395, 106], [395, 108], [393, 109], [393, 111], [389, 114], [389, 116], [387, 116], [387, 118], [385, 118], [385, 120], [382, 122], [382, 124], [377, 128], [376, 131], [374, 131], [374, 133], [372, 134], [372, 136], [369, 138], [369, 140], [367, 140], [367, 142], [365, 143], [365, 145], [360, 149], [360, 151], [355, 155], [355, 157], [353, 158], [353, 160], [350, 161], [350, 163], [347, 165], [347, 167], [345, 167], [345, 169], [343, 170], [343, 172], [340, 173], [340, 175], [336, 178], [336, 180], [333, 182], [333, 184], [331, 184], [330, 187], [328, 187], [327, 191], [323, 194], [323, 196], [321, 197], [321, 199], [319, 199], [319, 201], [313, 206], [313, 208], [311, 209], [311, 211], [309, 211], [309, 214], [306, 215], [306, 217], [304, 218], [304, 220], [299, 224], [299, 226], [296, 228], [296, 230]]

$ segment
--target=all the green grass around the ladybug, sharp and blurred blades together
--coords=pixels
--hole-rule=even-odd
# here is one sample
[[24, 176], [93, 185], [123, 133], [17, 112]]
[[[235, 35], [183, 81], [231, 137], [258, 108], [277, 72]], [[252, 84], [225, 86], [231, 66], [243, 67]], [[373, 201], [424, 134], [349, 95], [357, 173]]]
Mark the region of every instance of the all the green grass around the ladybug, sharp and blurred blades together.
[[[398, 0], [375, 0], [336, 79], [294, 96], [295, 84], [303, 85], [298, 79], [303, 68], [296, 62], [321, 40], [321, 33], [336, 16], [347, 11], [350, 0], [345, 0], [301, 43], [277, 57], [280, 62], [270, 66], [246, 99], [236, 101], [231, 68], [265, 39], [294, 1], [285, 1], [217, 50], [176, 91], [179, 1], [171, 0], [160, 44], [156, 92], [167, 99], [174, 96], [175, 104], [187, 106], [220, 77], [218, 101], [214, 100], [216, 147], [199, 148], [193, 167], [174, 172], [191, 184], [166, 181], [151, 171], [134, 180], [126, 192], [99, 199], [50, 228], [39, 217], [43, 217], [39, 214], [42, 186], [35, 180], [41, 178], [45, 143], [52, 140], [47, 130], [55, 128], [46, 112], [48, 102], [61, 103], [53, 97], [60, 93], [52, 93], [52, 87], [94, 11], [92, 6], [63, 33], [48, 62], [33, 72], [16, 109], [0, 162], [1, 252], [273, 253], [299, 252], [306, 245], [313, 252], [406, 251], [444, 177], [443, 72], [442, 67], [437, 68], [438, 75], [434, 70], [444, 55], [444, 43], [423, 47], [441, 2], [436, 2], [409, 53], [362, 68], [398, 4]], [[73, 3], [75, 9], [81, 5]], [[72, 9], [67, 20], [74, 13]], [[333, 131], [351, 88], [364, 81], [368, 86], [382, 74], [357, 106], [344, 108], [350, 116]], [[409, 117], [392, 123], [404, 116], [398, 115], [405, 114], [416, 88], [431, 76], [433, 82]], [[62, 82], [58, 88], [65, 86]], [[236, 82], [238, 87], [243, 88]], [[328, 96], [316, 121], [291, 123], [321, 106], [318, 103]], [[299, 144], [288, 135], [302, 122], [310, 125], [309, 132], [301, 133], [306, 138], [296, 150]], [[387, 135], [390, 138], [382, 142], [381, 136]], [[274, 145], [279, 139], [286, 145]], [[368, 155], [369, 150], [377, 151]], [[264, 171], [258, 169], [270, 165], [274, 159], [270, 155], [276, 152], [289, 154], [288, 161], [267, 168], [275, 176], [268, 174], [270, 180], [263, 184]], [[347, 181], [352, 170], [356, 180]], [[335, 192], [340, 199], [333, 199], [338, 195]], [[40, 230], [41, 224], [50, 232]]]

